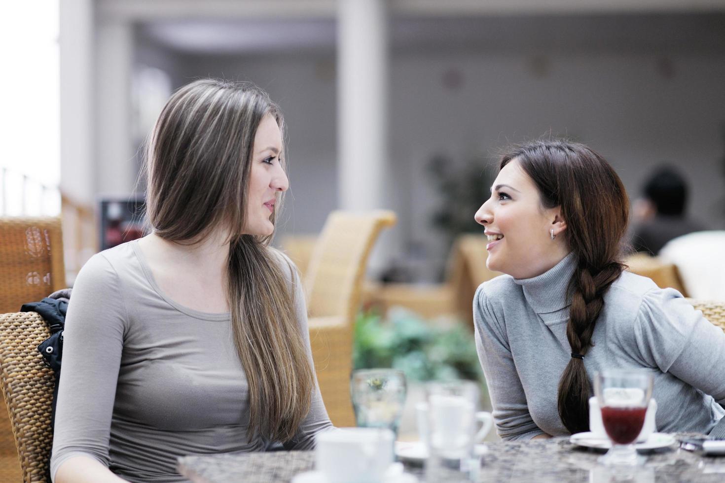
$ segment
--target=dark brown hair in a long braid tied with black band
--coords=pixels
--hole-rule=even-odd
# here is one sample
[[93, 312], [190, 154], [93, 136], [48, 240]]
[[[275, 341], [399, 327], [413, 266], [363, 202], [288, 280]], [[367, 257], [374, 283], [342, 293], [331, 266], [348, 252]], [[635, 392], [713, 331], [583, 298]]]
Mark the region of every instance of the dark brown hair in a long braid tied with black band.
[[[629, 217], [629, 198], [614, 169], [602, 156], [580, 143], [539, 140], [514, 148], [500, 169], [518, 161], [539, 190], [542, 206], [560, 206], [568, 247], [577, 266], [569, 282], [571, 307], [566, 337], [571, 352], [585, 355], [604, 294], [620, 276], [622, 240]], [[581, 358], [571, 358], [561, 374], [559, 416], [570, 432], [589, 431], [591, 383]]]

